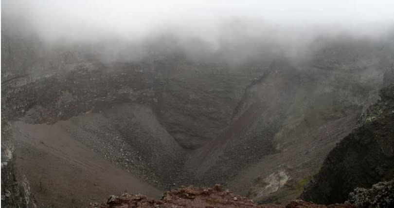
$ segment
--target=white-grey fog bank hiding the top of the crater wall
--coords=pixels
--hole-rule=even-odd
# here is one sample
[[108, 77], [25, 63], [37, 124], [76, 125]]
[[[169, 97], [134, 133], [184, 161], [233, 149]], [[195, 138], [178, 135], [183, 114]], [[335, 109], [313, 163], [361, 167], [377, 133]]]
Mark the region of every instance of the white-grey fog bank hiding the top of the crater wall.
[[303, 57], [319, 36], [384, 38], [393, 31], [393, 8], [391, 0], [2, 0], [1, 17], [2, 32], [46, 44], [100, 43], [111, 57], [176, 50], [237, 62], [268, 51]]

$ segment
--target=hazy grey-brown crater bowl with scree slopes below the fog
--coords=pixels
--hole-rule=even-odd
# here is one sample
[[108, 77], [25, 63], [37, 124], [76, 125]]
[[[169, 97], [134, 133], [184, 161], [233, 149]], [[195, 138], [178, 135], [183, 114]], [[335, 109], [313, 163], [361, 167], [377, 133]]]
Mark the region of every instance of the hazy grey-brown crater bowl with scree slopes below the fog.
[[[114, 172], [150, 197], [221, 183], [287, 204], [392, 70], [392, 48], [339, 39], [317, 40], [302, 62], [278, 56], [229, 65], [176, 54], [104, 61], [84, 45], [2, 35], [1, 113], [16, 138], [17, 169], [45, 205], [83, 206], [108, 194], [105, 186], [119, 193], [126, 185], [116, 188], [112, 178], [97, 183]], [[87, 155], [97, 159], [90, 164]], [[99, 174], [104, 166], [111, 168]], [[97, 191], [86, 196], [88, 189]]]

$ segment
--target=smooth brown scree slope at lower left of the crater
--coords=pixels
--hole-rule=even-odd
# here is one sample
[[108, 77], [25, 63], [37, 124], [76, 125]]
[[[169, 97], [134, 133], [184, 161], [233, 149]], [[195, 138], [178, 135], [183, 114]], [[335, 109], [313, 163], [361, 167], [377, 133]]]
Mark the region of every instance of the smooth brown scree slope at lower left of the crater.
[[85, 207], [125, 190], [161, 196], [162, 191], [113, 165], [64, 129], [18, 121], [13, 131], [16, 164], [28, 176], [39, 207]]

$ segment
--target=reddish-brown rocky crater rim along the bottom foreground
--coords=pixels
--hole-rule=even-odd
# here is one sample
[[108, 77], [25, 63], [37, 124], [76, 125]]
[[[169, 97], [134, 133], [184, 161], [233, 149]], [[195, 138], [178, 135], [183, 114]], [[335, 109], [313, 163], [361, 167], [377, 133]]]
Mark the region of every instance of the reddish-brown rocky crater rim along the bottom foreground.
[[[149, 199], [144, 195], [124, 193], [110, 196], [107, 203], [90, 203], [90, 208], [284, 208], [279, 205], [261, 205], [253, 200], [223, 189], [220, 185], [213, 188], [182, 187], [164, 193], [161, 200]], [[303, 200], [292, 200], [286, 208], [353, 208], [350, 203], [317, 205]]]

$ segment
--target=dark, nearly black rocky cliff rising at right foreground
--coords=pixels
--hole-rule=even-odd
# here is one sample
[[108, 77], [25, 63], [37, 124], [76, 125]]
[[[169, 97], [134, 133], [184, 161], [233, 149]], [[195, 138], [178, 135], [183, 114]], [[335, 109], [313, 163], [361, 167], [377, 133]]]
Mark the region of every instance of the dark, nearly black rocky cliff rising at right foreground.
[[394, 85], [360, 117], [357, 128], [328, 154], [302, 198], [316, 203], [344, 202], [357, 187], [370, 188], [394, 178]]

